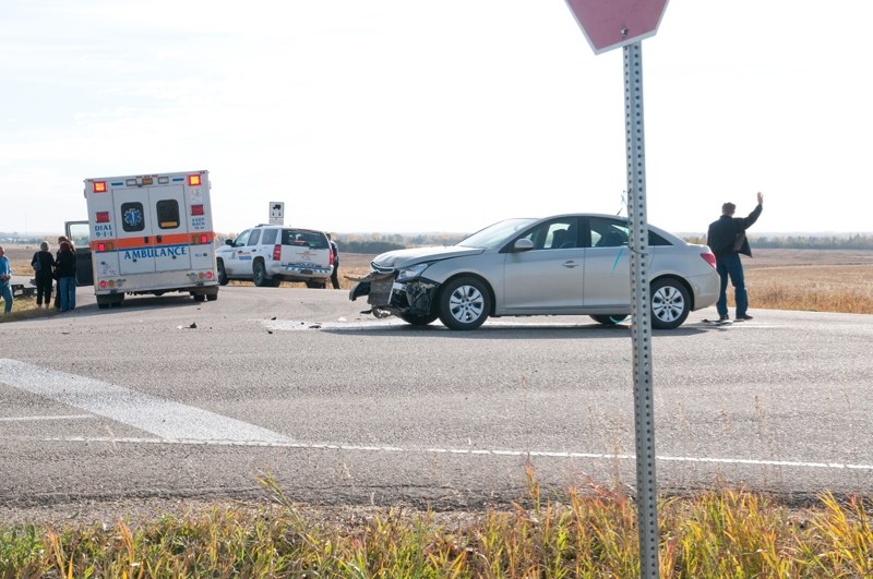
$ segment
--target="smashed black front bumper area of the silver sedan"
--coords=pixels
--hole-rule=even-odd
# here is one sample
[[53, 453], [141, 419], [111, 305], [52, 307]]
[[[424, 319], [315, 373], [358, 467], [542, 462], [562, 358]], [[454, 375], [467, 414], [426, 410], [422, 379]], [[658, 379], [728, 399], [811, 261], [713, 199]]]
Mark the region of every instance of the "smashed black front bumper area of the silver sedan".
[[440, 285], [424, 278], [395, 281], [394, 272], [371, 272], [358, 279], [349, 291], [351, 301], [367, 297], [372, 309], [362, 313], [371, 313], [376, 317], [388, 315], [429, 315], [433, 311], [436, 290]]

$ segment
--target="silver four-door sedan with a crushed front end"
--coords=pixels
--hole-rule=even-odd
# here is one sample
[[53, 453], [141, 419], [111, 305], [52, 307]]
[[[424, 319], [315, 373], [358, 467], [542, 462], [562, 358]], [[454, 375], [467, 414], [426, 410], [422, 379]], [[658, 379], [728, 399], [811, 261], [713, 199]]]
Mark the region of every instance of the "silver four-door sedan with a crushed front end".
[[[651, 325], [677, 328], [718, 299], [715, 256], [648, 229]], [[610, 215], [507, 219], [456, 245], [383, 253], [349, 298], [366, 295], [376, 317], [415, 325], [439, 318], [452, 329], [515, 315], [583, 314], [617, 324], [631, 313], [627, 241], [627, 220]]]

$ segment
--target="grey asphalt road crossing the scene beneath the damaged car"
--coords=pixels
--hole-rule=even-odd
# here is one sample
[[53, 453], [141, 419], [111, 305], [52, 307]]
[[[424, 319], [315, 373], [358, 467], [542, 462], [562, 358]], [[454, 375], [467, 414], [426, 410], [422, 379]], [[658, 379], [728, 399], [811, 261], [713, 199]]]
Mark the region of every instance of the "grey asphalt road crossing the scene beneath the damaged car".
[[[0, 325], [0, 507], [249, 499], [458, 509], [635, 485], [626, 326], [360, 314], [345, 291], [226, 287]], [[661, 491], [873, 491], [870, 316], [753, 311], [656, 331]]]

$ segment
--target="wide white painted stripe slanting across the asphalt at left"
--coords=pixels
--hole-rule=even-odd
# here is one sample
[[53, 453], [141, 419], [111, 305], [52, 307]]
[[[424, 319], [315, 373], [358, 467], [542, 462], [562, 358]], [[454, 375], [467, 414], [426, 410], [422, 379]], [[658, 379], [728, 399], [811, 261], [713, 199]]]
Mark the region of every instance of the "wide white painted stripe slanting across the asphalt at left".
[[282, 434], [155, 396], [17, 360], [0, 359], [0, 383], [152, 433], [200, 442], [290, 443]]

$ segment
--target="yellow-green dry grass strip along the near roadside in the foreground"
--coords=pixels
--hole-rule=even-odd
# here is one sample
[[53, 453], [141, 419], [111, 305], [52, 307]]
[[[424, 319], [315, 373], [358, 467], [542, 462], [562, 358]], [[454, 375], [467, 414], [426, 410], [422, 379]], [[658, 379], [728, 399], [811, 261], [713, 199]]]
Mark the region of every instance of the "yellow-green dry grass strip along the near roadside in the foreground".
[[[290, 502], [112, 526], [0, 526], [0, 577], [637, 577], [637, 515], [594, 486], [463, 518]], [[871, 577], [871, 504], [824, 494], [789, 509], [743, 490], [658, 505], [661, 577]], [[445, 522], [441, 522], [445, 521]]]

